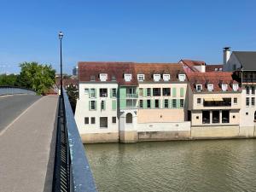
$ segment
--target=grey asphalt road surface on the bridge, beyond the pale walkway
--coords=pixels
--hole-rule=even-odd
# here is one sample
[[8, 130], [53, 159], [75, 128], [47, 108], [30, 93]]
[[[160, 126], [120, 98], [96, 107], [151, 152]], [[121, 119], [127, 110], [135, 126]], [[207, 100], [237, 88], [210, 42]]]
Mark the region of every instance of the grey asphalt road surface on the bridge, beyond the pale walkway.
[[0, 132], [41, 96], [0, 96]]

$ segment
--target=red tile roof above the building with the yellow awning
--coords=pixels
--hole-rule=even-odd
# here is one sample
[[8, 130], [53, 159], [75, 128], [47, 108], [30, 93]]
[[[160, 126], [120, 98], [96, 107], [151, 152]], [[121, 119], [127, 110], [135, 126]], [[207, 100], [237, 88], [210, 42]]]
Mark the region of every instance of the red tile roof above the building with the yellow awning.
[[202, 84], [202, 92], [209, 92], [207, 90], [207, 84], [213, 84], [213, 91], [219, 92], [223, 91], [221, 89], [221, 84], [228, 84], [228, 90], [232, 91], [232, 84], [238, 84], [236, 80], [232, 78], [231, 72], [206, 72], [206, 73], [188, 73], [190, 87], [193, 91], [195, 90], [196, 84]]

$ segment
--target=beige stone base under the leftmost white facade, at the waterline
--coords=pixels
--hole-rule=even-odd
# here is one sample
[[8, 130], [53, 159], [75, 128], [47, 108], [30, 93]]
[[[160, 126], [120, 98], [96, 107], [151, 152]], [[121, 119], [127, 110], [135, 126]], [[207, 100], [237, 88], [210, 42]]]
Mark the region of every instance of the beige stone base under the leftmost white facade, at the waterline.
[[108, 132], [108, 133], [86, 133], [81, 134], [83, 143], [118, 143], [119, 133]]

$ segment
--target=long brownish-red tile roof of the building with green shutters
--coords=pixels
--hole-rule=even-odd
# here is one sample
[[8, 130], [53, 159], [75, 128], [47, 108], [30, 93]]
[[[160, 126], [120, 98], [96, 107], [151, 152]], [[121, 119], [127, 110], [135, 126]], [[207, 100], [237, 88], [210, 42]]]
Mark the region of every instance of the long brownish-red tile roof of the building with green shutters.
[[[79, 81], [100, 81], [99, 74], [107, 73], [107, 82], [114, 76], [120, 85], [137, 85], [137, 74], [145, 74], [145, 81], [153, 81], [153, 74], [170, 74], [171, 81], [177, 81], [177, 74], [184, 73], [178, 63], [135, 63], [135, 62], [79, 62]], [[131, 82], [125, 82], [124, 73], [131, 73]]]

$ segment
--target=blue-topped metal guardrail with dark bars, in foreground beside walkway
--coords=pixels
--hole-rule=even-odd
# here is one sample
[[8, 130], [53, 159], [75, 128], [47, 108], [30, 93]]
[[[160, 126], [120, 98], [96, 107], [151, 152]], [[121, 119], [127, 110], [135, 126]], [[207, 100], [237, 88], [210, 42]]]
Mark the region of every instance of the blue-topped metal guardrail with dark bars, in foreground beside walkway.
[[65, 90], [59, 99], [52, 186], [52, 191], [97, 191]]

